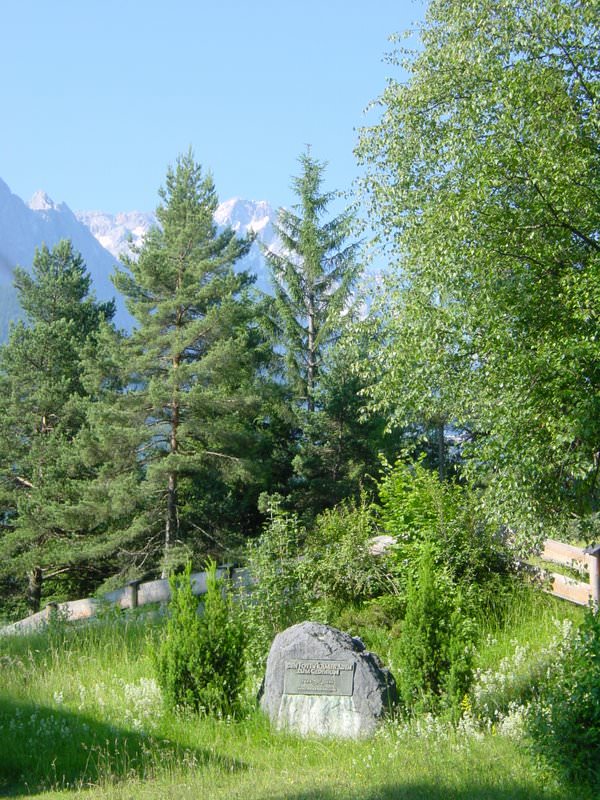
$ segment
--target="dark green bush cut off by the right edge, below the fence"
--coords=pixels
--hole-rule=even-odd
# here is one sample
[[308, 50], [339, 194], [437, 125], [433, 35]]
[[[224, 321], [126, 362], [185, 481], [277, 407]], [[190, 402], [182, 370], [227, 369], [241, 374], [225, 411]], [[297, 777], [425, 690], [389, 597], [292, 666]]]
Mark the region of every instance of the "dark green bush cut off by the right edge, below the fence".
[[600, 615], [562, 643], [527, 716], [535, 753], [567, 780], [600, 784]]

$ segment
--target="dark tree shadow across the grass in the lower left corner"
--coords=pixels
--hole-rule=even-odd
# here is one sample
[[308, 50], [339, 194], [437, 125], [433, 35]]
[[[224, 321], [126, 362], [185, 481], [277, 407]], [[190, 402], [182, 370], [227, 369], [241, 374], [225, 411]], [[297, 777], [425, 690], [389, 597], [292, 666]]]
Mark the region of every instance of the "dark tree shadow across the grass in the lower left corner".
[[0, 697], [0, 797], [150, 778], [169, 764], [245, 769], [241, 761], [98, 722], [60, 708]]

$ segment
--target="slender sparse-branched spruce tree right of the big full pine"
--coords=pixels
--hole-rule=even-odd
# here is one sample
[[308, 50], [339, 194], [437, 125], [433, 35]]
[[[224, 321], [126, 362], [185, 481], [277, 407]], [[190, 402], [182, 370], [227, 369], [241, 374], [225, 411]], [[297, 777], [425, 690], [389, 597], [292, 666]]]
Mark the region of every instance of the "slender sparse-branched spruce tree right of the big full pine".
[[362, 465], [351, 464], [362, 456], [347, 447], [358, 416], [356, 381], [350, 386], [349, 373], [337, 370], [341, 351], [339, 358], [333, 355], [352, 319], [360, 265], [359, 243], [349, 242], [351, 212], [328, 214], [338, 195], [322, 189], [325, 164], [310, 152], [299, 162], [300, 175], [293, 179], [298, 203], [279, 210], [280, 245], [264, 252], [275, 292], [272, 331], [296, 417], [292, 499], [314, 515], [356, 488], [354, 478], [363, 473]]

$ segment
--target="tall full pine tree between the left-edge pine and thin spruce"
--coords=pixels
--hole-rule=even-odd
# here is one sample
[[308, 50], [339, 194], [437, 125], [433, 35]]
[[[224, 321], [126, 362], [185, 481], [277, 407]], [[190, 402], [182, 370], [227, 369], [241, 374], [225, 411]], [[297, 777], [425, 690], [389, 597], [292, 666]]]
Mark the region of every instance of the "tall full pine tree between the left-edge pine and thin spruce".
[[222, 553], [227, 526], [256, 524], [253, 506], [272, 480], [279, 392], [254, 279], [235, 269], [251, 239], [217, 228], [214, 182], [191, 152], [169, 168], [160, 197], [160, 227], [114, 279], [136, 328], [106, 342], [104, 372], [90, 364], [100, 402], [89, 452], [96, 486], [132, 497], [136, 560], [156, 569], [162, 559], [166, 572], [182, 545]]

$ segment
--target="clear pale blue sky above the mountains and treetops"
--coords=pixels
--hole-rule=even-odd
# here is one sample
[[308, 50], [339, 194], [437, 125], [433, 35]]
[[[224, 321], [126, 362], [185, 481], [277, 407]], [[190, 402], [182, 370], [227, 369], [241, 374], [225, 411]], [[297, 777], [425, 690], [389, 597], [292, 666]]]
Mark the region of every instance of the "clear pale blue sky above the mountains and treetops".
[[0, 0], [0, 178], [73, 210], [150, 211], [192, 148], [221, 200], [294, 201], [298, 156], [325, 189], [358, 174], [390, 35], [420, 0]]

